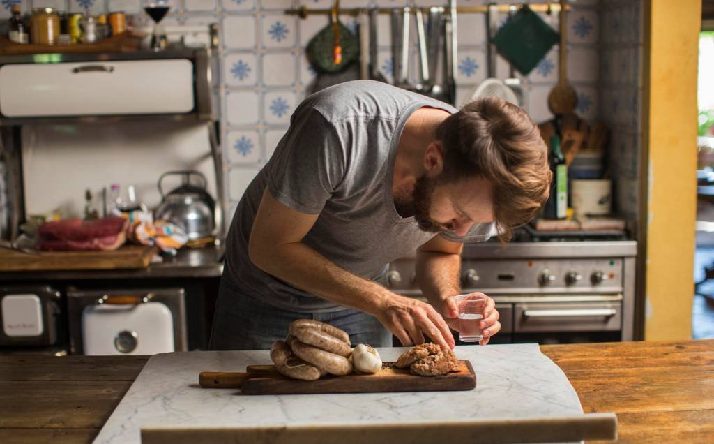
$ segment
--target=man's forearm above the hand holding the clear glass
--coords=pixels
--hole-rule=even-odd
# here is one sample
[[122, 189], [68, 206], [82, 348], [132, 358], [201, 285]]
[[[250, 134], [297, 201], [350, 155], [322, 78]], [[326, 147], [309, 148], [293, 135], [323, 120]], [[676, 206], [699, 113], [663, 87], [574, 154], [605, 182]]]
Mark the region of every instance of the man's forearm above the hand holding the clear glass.
[[460, 271], [461, 255], [446, 252], [417, 252], [417, 283], [423, 295], [440, 312], [441, 302], [447, 296], [458, 295], [461, 292], [458, 278]]

